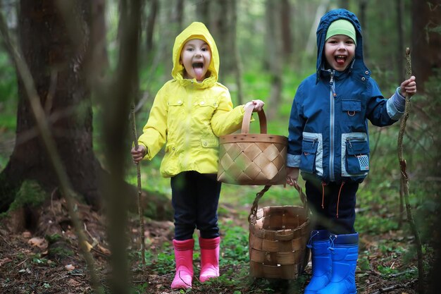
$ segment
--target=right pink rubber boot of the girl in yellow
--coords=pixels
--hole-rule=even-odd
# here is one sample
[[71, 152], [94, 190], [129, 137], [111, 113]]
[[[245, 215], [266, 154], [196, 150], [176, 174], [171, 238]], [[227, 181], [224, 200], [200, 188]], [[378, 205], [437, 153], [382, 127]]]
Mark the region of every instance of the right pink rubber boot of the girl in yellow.
[[204, 239], [199, 238], [201, 247], [201, 274], [199, 281], [204, 283], [209, 278], [219, 276], [219, 243], [221, 238]]

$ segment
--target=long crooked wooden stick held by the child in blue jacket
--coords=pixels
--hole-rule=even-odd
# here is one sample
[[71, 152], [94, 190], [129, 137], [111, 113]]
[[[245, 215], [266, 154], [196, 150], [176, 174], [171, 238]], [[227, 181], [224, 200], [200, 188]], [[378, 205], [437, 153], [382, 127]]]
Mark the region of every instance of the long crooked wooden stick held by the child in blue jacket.
[[[406, 77], [411, 76], [411, 55], [410, 49], [406, 48]], [[411, 230], [415, 235], [416, 241], [416, 252], [418, 256], [418, 293], [424, 293], [424, 269], [423, 269], [423, 250], [421, 247], [421, 238], [416, 228], [414, 221], [414, 216], [412, 216], [411, 205], [409, 204], [409, 177], [406, 173], [406, 160], [403, 157], [403, 136], [404, 130], [406, 128], [406, 121], [409, 118], [409, 108], [410, 108], [410, 95], [406, 93], [406, 106], [404, 107], [404, 116], [399, 123], [399, 133], [398, 133], [398, 161], [399, 169], [401, 171], [401, 178], [403, 183], [404, 201], [406, 202], [406, 212], [407, 220], [411, 226]]]

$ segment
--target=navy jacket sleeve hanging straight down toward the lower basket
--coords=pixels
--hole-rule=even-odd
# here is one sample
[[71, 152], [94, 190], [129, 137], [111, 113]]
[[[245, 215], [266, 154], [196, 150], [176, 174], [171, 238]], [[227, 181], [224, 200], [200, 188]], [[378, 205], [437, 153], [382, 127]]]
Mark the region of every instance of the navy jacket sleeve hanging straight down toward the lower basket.
[[287, 166], [300, 167], [302, 155], [302, 138], [304, 118], [301, 101], [304, 99], [302, 84], [299, 85], [291, 106], [290, 122], [288, 125]]

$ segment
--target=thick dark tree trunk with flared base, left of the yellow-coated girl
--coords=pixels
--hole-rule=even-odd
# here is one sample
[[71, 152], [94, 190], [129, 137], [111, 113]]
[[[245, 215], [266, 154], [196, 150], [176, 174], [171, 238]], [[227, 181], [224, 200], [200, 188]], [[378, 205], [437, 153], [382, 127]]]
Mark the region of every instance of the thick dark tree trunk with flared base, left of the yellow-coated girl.
[[[84, 39], [74, 47], [55, 2], [20, 1], [18, 39], [71, 183], [87, 203], [97, 206], [100, 165], [92, 150], [92, 107], [83, 75], [91, 9], [89, 1], [79, 1], [75, 18], [83, 25]], [[1, 175], [8, 185], [6, 190], [18, 188], [25, 179], [37, 180], [48, 191], [58, 186], [35, 125], [23, 81], [18, 77], [15, 147]], [[1, 192], [0, 210], [5, 211], [13, 194]]]

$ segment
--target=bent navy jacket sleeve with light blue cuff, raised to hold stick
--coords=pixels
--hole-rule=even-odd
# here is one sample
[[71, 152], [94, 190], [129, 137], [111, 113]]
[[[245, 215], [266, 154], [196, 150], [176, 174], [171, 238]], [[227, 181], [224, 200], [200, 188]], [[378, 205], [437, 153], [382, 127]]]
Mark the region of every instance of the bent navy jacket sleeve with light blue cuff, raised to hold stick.
[[370, 87], [368, 92], [371, 93], [371, 98], [368, 99], [366, 105], [366, 117], [368, 120], [373, 125], [379, 127], [395, 123], [403, 115], [403, 112], [397, 109], [396, 104], [394, 104], [395, 99], [401, 98], [397, 97], [399, 95], [398, 91], [395, 91], [395, 94], [390, 99], [385, 99], [374, 80], [369, 83], [368, 87]]

